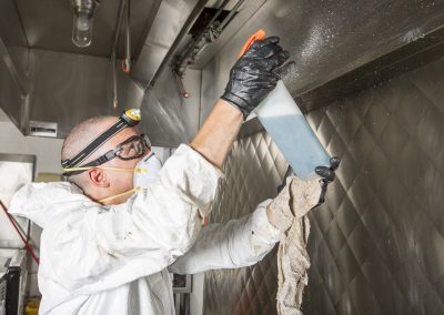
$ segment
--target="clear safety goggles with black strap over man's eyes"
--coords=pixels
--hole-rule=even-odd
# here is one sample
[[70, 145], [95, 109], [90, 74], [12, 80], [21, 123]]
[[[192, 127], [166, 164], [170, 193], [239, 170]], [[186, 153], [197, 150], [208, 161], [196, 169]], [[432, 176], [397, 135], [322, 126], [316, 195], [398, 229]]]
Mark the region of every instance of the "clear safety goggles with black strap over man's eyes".
[[[94, 161], [91, 161], [84, 165], [77, 167], [63, 169], [65, 176], [77, 175], [92, 167], [97, 167], [111, 161], [112, 159], [119, 158], [123, 161], [134, 160], [142, 158], [148, 151], [151, 150], [151, 143], [144, 134], [133, 135], [117, 145], [113, 150], [108, 151], [103, 155], [99, 156]], [[108, 167], [112, 169], [112, 167]], [[122, 169], [123, 170], [123, 169]]]

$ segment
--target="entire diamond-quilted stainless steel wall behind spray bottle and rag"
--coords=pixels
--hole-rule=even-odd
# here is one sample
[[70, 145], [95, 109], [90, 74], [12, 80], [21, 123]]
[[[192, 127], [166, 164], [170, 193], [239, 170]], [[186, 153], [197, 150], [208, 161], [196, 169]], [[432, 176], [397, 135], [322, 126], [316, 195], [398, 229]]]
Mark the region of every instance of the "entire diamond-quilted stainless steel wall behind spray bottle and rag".
[[[444, 60], [311, 112], [342, 159], [311, 213], [304, 314], [444, 314]], [[285, 170], [266, 134], [240, 140], [213, 221], [249, 213]], [[275, 314], [275, 252], [205, 275], [204, 314]]]

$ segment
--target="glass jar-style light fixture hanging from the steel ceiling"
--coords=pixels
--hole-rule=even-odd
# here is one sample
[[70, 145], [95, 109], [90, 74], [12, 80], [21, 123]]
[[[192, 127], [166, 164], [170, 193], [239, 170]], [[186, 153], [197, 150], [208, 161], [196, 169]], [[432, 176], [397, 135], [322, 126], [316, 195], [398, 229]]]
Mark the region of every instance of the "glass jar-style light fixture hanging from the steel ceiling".
[[100, 0], [71, 0], [74, 9], [72, 20], [72, 42], [80, 48], [89, 47], [92, 39], [95, 7]]

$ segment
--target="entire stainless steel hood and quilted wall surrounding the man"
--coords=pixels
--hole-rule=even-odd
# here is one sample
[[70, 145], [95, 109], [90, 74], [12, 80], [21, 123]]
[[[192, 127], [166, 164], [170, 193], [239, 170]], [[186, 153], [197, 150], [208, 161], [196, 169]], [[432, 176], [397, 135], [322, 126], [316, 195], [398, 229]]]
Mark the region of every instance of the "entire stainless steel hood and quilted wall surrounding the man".
[[[82, 6], [93, 32], [74, 45]], [[0, 105], [23, 134], [57, 138], [140, 108], [152, 143], [175, 148], [195, 135], [259, 29], [290, 51], [296, 68], [283, 81], [342, 160], [310, 213], [303, 314], [443, 314], [444, 2], [2, 0]], [[274, 197], [286, 169], [251, 118], [210, 221]], [[208, 272], [203, 314], [278, 314], [276, 284], [276, 250]]]

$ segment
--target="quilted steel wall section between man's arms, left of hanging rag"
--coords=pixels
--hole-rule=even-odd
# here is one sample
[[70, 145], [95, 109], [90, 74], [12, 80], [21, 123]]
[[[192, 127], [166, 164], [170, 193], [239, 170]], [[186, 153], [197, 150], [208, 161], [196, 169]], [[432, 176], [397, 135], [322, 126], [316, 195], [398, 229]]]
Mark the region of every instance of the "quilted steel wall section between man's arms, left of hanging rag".
[[[241, 217], [273, 197], [287, 163], [262, 132], [238, 141], [224, 167], [211, 222]], [[276, 248], [252, 267], [206, 273], [203, 314], [275, 314], [275, 254]]]

